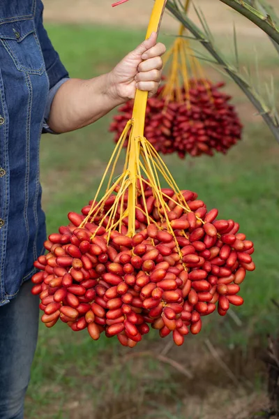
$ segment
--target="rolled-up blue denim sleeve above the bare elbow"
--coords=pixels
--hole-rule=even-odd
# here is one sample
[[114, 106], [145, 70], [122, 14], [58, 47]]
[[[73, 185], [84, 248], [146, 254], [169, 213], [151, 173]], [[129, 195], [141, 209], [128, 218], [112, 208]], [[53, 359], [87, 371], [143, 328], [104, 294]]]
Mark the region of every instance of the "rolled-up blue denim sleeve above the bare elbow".
[[50, 80], [50, 91], [47, 97], [47, 106], [45, 108], [43, 133], [54, 133], [47, 125], [47, 119], [50, 115], [50, 107], [52, 105], [56, 91], [59, 89], [59, 87], [61, 87], [61, 84], [68, 80], [69, 75], [68, 71], [61, 63], [59, 54], [54, 50], [50, 38], [47, 35], [47, 31], [43, 27], [43, 3], [41, 0], [37, 0], [36, 4], [36, 31], [45, 60], [45, 68]]

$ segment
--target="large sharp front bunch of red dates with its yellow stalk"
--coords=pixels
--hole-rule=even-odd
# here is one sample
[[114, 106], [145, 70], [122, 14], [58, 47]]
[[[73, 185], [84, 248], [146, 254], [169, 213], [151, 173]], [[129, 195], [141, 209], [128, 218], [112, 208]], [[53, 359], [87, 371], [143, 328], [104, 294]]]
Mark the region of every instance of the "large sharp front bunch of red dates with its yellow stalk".
[[[158, 28], [165, 2], [156, 0], [147, 36]], [[87, 329], [92, 339], [104, 332], [130, 348], [150, 328], [183, 344], [216, 307], [225, 316], [230, 304], [243, 303], [240, 284], [255, 269], [253, 244], [239, 224], [217, 219], [218, 210], [208, 211], [196, 193], [181, 191], [144, 138], [146, 100], [147, 93], [137, 91], [133, 117], [96, 196], [49, 236], [48, 253], [36, 260], [39, 272], [32, 277], [48, 328], [60, 319], [76, 332]]]

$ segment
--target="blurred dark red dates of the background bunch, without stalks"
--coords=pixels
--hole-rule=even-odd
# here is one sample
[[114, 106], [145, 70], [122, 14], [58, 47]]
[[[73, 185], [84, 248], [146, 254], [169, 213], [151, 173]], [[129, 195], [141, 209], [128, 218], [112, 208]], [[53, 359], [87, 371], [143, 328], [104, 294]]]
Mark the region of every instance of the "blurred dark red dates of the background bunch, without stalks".
[[[213, 156], [214, 150], [226, 154], [241, 139], [242, 125], [234, 106], [229, 104], [231, 96], [220, 91], [223, 85], [190, 80], [188, 94], [181, 88], [182, 101], [167, 102], [162, 97], [164, 86], [159, 88], [157, 96], [149, 98], [144, 135], [157, 152], [177, 152], [181, 159], [186, 154]], [[110, 131], [115, 132], [115, 142], [132, 112], [133, 101], [128, 101], [114, 116]]]

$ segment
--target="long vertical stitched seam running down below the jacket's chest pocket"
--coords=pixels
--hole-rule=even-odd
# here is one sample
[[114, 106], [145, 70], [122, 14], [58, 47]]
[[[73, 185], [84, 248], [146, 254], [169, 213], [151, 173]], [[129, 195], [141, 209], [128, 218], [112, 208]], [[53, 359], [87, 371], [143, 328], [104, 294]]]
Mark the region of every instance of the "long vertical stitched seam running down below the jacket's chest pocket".
[[28, 224], [28, 204], [29, 204], [29, 175], [30, 175], [30, 124], [31, 124], [31, 108], [33, 91], [30, 76], [25, 75], [25, 81], [28, 89], [28, 103], [27, 103], [27, 123], [26, 123], [26, 169], [25, 169], [25, 180], [24, 180], [24, 223], [27, 230], [27, 248], [29, 244], [29, 224]]

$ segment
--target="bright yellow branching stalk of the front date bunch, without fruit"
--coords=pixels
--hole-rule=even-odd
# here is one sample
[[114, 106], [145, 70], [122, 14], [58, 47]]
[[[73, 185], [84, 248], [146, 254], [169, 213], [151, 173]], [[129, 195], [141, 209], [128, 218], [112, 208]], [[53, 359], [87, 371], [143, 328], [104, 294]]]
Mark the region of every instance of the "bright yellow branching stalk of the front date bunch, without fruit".
[[[153, 7], [153, 12], [151, 15], [151, 20], [149, 22], [149, 27], [146, 33], [146, 38], [149, 38], [153, 31], [158, 32], [160, 27], [160, 22], [163, 17], [163, 12], [165, 10], [166, 0], [156, 0]], [[128, 140], [128, 149], [126, 154], [126, 162], [123, 167], [123, 172], [120, 177], [117, 179], [117, 195], [114, 200], [114, 205], [110, 210], [103, 214], [100, 221], [98, 221], [99, 226], [103, 226], [105, 220], [107, 220], [107, 231], [111, 233], [112, 230], [121, 230], [122, 221], [128, 216], [128, 236], [133, 237], [136, 233], [135, 228], [135, 211], [136, 211], [136, 202], [137, 202], [137, 193], [140, 189], [140, 194], [144, 200], [144, 215], [146, 216], [147, 222], [156, 223], [151, 219], [146, 200], [144, 197], [144, 186], [147, 184], [153, 190], [153, 196], [156, 198], [156, 205], [160, 207], [163, 214], [160, 214], [161, 219], [165, 219], [167, 223], [167, 229], [173, 234], [172, 226], [167, 218], [167, 212], [169, 208], [164, 200], [164, 193], [161, 191], [159, 176], [163, 175], [169, 187], [175, 191], [177, 194], [176, 205], [180, 205], [184, 211], [190, 212], [190, 209], [186, 203], [186, 200], [183, 198], [179, 191], [179, 187], [176, 186], [172, 175], [169, 173], [169, 170], [165, 166], [165, 163], [160, 158], [154, 147], [149, 143], [146, 138], [144, 138], [144, 120], [146, 112], [146, 102], [148, 98], [148, 93], [146, 91], [136, 91], [135, 103], [133, 108], [133, 117], [130, 119], [126, 125], [126, 128], [123, 130], [119, 142], [117, 143], [112, 157], [108, 163], [108, 166], [105, 170], [102, 181], [96, 193], [96, 196], [93, 200], [91, 211], [89, 212], [86, 219], [84, 219], [82, 226], [91, 219], [93, 222], [96, 217], [103, 214], [103, 208], [106, 200], [111, 196], [112, 192], [115, 191], [116, 185], [112, 183], [114, 179], [114, 172], [116, 169], [116, 164], [119, 159], [121, 149], [123, 144], [126, 141], [126, 138], [129, 134]], [[110, 174], [110, 175], [109, 175]], [[105, 179], [109, 175], [109, 180], [107, 182], [107, 188], [105, 196], [101, 198], [98, 202], [98, 196], [103, 187]], [[145, 184], [145, 185], [144, 185]], [[126, 191], [128, 191], [128, 207], [127, 210], [121, 213], [120, 218], [117, 221], [114, 221], [116, 218], [116, 211], [121, 205], [123, 207], [123, 199]], [[172, 199], [172, 198], [171, 198]], [[109, 236], [110, 237], [110, 234]], [[109, 239], [108, 239], [109, 240]]]

